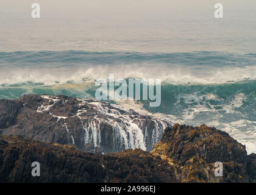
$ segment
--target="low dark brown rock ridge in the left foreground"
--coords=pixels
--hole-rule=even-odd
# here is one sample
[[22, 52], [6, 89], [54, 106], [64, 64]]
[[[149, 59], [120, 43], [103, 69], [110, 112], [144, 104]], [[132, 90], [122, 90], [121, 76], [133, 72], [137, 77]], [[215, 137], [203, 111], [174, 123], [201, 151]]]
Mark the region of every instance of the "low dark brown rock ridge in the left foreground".
[[[32, 177], [32, 162], [40, 177]], [[141, 149], [100, 155], [0, 136], [0, 182], [176, 182], [167, 161]]]

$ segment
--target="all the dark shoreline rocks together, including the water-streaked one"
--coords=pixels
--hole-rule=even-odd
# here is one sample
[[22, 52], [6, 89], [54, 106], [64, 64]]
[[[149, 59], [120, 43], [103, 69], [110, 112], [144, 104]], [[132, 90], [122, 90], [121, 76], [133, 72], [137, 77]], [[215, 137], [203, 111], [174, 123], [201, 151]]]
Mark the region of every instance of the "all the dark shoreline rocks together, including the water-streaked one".
[[0, 100], [0, 182], [256, 182], [256, 154], [214, 127], [31, 94]]

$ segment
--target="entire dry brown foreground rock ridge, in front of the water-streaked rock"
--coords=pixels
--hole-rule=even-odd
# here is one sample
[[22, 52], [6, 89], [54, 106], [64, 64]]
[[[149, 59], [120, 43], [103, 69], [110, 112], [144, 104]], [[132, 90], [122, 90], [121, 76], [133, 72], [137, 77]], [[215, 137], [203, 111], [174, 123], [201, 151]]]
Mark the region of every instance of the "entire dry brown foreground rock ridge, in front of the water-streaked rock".
[[[38, 161], [41, 176], [31, 176]], [[215, 177], [215, 161], [223, 176]], [[256, 155], [212, 127], [166, 128], [153, 151], [106, 155], [73, 146], [0, 136], [0, 182], [256, 182]]]

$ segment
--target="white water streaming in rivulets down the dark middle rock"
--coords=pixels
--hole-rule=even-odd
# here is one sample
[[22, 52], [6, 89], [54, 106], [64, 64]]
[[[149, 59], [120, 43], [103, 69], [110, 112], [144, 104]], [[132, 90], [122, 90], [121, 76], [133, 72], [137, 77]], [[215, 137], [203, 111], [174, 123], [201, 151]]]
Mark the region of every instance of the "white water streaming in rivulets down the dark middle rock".
[[[49, 112], [52, 117], [58, 118], [57, 122], [61, 122], [62, 126], [66, 128], [68, 140], [69, 138], [71, 138], [72, 144], [75, 144], [72, 132], [68, 129], [68, 121], [66, 120], [67, 117], [56, 116], [51, 113], [51, 107], [54, 106], [56, 102], [60, 102], [60, 99], [57, 96], [41, 97], [48, 101], [44, 102], [40, 107], [38, 107], [37, 112]], [[160, 141], [164, 129], [167, 126], [172, 125], [172, 122], [160, 121], [157, 118], [151, 118], [150, 120], [154, 122], [155, 125], [153, 125], [151, 137], [149, 137], [149, 135], [147, 134], [147, 137], [150, 141], [146, 143], [146, 129], [144, 129], [145, 119], [139, 118], [136, 113], [130, 110], [130, 108], [123, 108], [115, 104], [110, 105], [105, 102], [99, 102], [96, 100], [89, 101], [87, 99], [78, 98], [77, 101], [80, 102], [80, 108], [77, 110], [77, 113], [74, 116], [77, 116], [82, 123], [83, 134], [80, 138], [81, 142], [84, 145], [92, 144], [94, 148], [101, 146], [102, 124], [104, 126], [107, 124], [108, 126], [112, 127], [112, 144], [114, 151], [122, 151], [129, 148], [141, 148], [144, 151], [146, 151], [147, 149], [152, 149], [152, 146]], [[62, 103], [65, 104], [64, 101]], [[94, 116], [90, 119], [84, 117], [83, 115], [87, 113], [88, 107], [94, 110]], [[60, 119], [64, 120], [60, 121]]]

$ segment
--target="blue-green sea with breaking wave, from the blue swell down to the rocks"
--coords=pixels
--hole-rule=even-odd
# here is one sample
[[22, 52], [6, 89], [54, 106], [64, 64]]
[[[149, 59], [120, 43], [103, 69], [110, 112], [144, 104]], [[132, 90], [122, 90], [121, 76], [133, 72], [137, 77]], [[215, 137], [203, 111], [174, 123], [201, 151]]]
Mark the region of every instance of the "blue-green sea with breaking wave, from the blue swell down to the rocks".
[[162, 79], [162, 103], [112, 101], [182, 124], [225, 130], [256, 152], [256, 54], [196, 51], [170, 53], [0, 52], [0, 98], [65, 94], [94, 98], [95, 79]]

